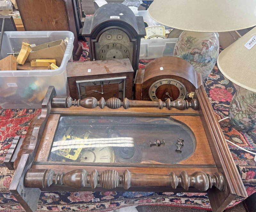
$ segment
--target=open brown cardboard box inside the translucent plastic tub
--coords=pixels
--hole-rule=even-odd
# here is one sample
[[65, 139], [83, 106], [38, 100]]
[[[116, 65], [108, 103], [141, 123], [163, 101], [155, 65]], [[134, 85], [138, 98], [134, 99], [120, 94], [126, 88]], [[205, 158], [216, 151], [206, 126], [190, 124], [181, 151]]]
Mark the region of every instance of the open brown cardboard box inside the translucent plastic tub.
[[32, 47], [26, 62], [34, 59], [56, 59], [56, 65], [60, 67], [65, 51], [66, 45], [63, 40], [44, 43]]

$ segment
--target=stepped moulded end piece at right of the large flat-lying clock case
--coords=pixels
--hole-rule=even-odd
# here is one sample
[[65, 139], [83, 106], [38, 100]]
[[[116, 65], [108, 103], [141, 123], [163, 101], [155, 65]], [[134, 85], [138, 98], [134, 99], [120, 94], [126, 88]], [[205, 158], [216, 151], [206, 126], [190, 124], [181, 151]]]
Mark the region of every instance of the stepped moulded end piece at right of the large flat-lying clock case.
[[223, 211], [235, 198], [234, 194], [247, 197], [247, 193], [203, 85], [196, 90], [196, 98], [216, 166], [226, 177], [225, 191], [219, 192], [213, 189], [208, 192], [208, 196], [212, 210]]

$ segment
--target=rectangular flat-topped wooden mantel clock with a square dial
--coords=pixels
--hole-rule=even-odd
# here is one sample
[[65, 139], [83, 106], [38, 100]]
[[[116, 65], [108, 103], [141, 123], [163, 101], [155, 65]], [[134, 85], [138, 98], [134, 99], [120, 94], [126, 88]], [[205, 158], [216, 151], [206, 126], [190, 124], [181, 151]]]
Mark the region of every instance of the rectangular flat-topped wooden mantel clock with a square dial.
[[132, 98], [133, 69], [129, 59], [68, 63], [71, 98]]

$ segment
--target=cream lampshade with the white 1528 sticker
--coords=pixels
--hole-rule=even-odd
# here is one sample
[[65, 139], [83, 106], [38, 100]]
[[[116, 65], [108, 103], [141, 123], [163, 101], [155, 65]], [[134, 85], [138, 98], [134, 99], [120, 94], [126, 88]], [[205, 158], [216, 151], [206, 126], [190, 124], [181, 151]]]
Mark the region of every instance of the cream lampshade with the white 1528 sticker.
[[217, 64], [221, 73], [231, 82], [256, 92], [256, 45], [250, 50], [244, 45], [256, 35], [256, 27], [224, 49]]

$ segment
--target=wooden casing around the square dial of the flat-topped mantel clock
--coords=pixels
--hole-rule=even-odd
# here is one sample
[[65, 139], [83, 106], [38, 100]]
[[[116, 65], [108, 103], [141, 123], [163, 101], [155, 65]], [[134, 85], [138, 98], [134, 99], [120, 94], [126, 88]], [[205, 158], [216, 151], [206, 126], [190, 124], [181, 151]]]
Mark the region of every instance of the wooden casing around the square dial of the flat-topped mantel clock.
[[[88, 72], [88, 69], [91, 69], [91, 72]], [[131, 99], [133, 68], [131, 66], [129, 59], [95, 60], [95, 61], [68, 63], [68, 67], [67, 67], [67, 77], [68, 77], [68, 86], [69, 86], [70, 96], [71, 98], [75, 98], [75, 99], [78, 99], [78, 92], [77, 92], [77, 86], [76, 86], [77, 80], [92, 80], [92, 79], [103, 79], [103, 78], [113, 78], [113, 77], [122, 77], [122, 76], [126, 76], [125, 97]], [[115, 87], [115, 85], [111, 85], [111, 86]], [[92, 91], [93, 93], [89, 93], [88, 95], [95, 97], [97, 99], [101, 97], [104, 97], [104, 98], [113, 97], [113, 94], [116, 93], [116, 91], [112, 91], [112, 89], [114, 89], [112, 87], [105, 88], [104, 86], [103, 91], [105, 92], [105, 95], [104, 94], [101, 95], [100, 93], [96, 94], [93, 91]], [[98, 89], [101, 91], [101, 87], [99, 88], [99, 86], [95, 86], [95, 88], [93, 88], [92, 90], [98, 90]], [[117, 88], [117, 92], [118, 92], [118, 88]]]

